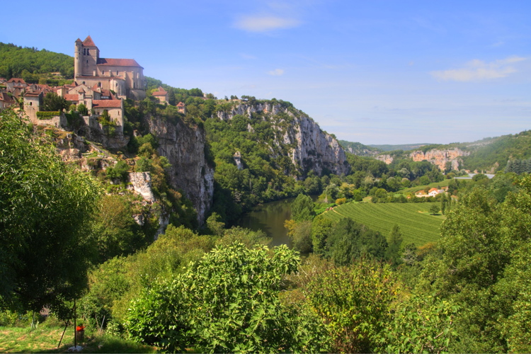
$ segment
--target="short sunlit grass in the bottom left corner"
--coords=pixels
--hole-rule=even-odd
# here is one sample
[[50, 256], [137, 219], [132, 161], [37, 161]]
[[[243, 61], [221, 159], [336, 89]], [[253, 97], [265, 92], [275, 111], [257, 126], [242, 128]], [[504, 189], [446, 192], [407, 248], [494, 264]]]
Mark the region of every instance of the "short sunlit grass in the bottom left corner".
[[[67, 353], [68, 348], [74, 346], [74, 328], [69, 326], [61, 346], [57, 348], [63, 330], [64, 327], [30, 329], [0, 326], [0, 353]], [[84, 347], [81, 353], [156, 353], [153, 347], [105, 335], [86, 335], [81, 346]]]

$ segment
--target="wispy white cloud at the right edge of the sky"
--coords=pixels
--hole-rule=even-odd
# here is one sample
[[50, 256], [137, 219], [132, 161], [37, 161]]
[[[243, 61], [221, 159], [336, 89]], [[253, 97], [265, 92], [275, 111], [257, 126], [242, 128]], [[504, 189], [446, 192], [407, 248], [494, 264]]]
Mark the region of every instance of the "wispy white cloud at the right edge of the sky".
[[506, 59], [495, 60], [494, 62], [483, 62], [479, 59], [474, 59], [468, 62], [464, 68], [450, 69], [431, 72], [437, 79], [444, 81], [481, 81], [489, 79], [499, 79], [506, 77], [509, 74], [516, 72], [516, 69], [511, 65], [516, 62], [521, 62], [527, 58], [523, 57], [508, 57]]

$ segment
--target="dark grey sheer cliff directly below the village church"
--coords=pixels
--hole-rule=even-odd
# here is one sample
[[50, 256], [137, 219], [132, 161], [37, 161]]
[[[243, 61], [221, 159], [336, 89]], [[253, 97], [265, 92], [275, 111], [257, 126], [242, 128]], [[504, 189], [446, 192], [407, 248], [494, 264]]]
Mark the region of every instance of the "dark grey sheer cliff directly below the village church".
[[159, 140], [159, 154], [166, 156], [171, 164], [171, 186], [184, 191], [202, 224], [214, 195], [214, 168], [207, 163], [205, 156], [204, 130], [188, 127], [181, 120], [173, 124], [148, 117], [147, 122], [150, 132]]

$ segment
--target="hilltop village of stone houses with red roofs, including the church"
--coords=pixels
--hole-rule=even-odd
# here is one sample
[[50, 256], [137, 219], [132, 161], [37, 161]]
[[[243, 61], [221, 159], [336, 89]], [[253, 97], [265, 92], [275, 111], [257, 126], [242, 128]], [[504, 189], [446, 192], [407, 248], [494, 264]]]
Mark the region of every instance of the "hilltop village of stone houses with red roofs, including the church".
[[[113, 125], [115, 135], [123, 133], [124, 100], [146, 98], [147, 81], [144, 68], [135, 59], [100, 57], [100, 50], [89, 35], [79, 38], [74, 46], [74, 80], [71, 84], [52, 87], [47, 84], [28, 84], [21, 78], [0, 78], [0, 109], [23, 110], [35, 125], [67, 126], [63, 112], [46, 111], [43, 101], [48, 93], [57, 94], [83, 113], [85, 124], [103, 130], [105, 123]], [[159, 103], [168, 103], [168, 92], [162, 87], [153, 93]], [[81, 109], [79, 109], [81, 107]], [[185, 113], [185, 105], [176, 107]]]

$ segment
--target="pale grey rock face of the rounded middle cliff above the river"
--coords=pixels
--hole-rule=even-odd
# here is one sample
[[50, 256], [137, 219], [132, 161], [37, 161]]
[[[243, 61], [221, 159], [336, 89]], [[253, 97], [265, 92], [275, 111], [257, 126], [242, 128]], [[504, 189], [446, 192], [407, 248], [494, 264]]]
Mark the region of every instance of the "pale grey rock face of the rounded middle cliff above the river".
[[[311, 170], [318, 175], [322, 175], [326, 170], [336, 174], [348, 173], [350, 166], [343, 147], [334, 137], [323, 132], [312, 118], [295, 108], [285, 108], [280, 103], [239, 104], [229, 111], [217, 112], [217, 116], [222, 120], [231, 120], [234, 115], [250, 118], [252, 113], [262, 113], [263, 120], [274, 122], [273, 128], [277, 132], [274, 145], [293, 146], [290, 159], [299, 171], [298, 178], [304, 178]], [[277, 115], [280, 113], [288, 115], [290, 122], [279, 118]], [[252, 131], [252, 127], [248, 127], [248, 130]], [[270, 147], [270, 150], [274, 156], [274, 147]]]

